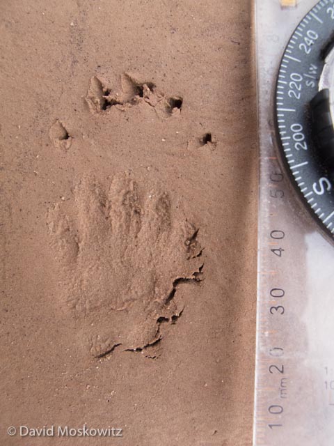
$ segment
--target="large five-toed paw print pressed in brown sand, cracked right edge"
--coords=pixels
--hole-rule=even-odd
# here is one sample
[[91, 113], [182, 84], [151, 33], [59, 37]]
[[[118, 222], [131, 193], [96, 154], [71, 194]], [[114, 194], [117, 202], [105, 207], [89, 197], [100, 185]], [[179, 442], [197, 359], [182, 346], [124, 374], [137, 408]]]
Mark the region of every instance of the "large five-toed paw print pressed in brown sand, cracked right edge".
[[177, 286], [200, 280], [198, 228], [168, 193], [143, 193], [128, 174], [115, 176], [108, 192], [82, 178], [73, 194], [71, 217], [64, 202], [47, 215], [62, 266], [61, 302], [95, 357], [119, 345], [152, 346], [161, 339], [160, 324], [182, 312]]

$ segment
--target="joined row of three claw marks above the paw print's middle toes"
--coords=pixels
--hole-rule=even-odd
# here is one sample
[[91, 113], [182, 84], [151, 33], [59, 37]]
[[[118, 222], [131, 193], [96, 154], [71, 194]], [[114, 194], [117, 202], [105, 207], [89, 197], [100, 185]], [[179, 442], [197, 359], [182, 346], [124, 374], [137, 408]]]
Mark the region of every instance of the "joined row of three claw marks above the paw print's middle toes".
[[124, 110], [144, 102], [161, 116], [180, 114], [183, 100], [180, 96], [167, 97], [153, 82], [142, 82], [134, 75], [124, 73], [120, 77], [120, 88], [111, 89], [106, 81], [93, 76], [86, 95], [90, 112], [106, 113], [111, 107]]

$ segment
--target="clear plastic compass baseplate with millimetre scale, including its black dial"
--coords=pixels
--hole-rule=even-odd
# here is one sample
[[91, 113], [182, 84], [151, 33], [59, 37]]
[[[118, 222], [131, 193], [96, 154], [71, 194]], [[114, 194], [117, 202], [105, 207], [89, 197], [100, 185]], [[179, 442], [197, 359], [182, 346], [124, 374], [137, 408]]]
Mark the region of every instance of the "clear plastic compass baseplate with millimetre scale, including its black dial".
[[[317, 134], [328, 110], [319, 112], [319, 100], [313, 111], [309, 104], [321, 76], [328, 77], [321, 58], [331, 54], [334, 4], [255, 3], [260, 201], [253, 445], [331, 446], [334, 192], [330, 144]], [[310, 59], [316, 56], [319, 63]]]

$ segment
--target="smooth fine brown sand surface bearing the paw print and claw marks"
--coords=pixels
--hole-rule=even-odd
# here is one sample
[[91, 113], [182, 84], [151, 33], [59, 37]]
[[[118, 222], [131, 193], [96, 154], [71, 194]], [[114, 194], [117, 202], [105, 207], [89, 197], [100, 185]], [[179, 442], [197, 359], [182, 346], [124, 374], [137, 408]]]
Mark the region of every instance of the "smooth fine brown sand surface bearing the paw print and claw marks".
[[251, 444], [252, 8], [0, 2], [1, 445]]

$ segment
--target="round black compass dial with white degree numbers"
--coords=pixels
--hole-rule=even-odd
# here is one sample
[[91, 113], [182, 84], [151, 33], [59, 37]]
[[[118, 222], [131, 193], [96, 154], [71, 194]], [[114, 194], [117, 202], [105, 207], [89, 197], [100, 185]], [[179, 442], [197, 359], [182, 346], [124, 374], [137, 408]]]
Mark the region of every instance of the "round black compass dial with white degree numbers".
[[305, 204], [334, 236], [334, 0], [296, 27], [276, 82], [283, 160]]

